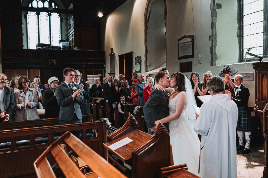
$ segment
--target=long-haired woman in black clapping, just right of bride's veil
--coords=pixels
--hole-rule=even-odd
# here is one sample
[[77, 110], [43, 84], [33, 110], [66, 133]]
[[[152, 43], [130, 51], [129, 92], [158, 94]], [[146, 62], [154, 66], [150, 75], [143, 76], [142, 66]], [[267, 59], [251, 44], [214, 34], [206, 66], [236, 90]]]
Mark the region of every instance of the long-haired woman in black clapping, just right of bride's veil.
[[202, 92], [203, 84], [200, 83], [199, 73], [193, 72], [191, 74], [190, 82], [193, 88], [193, 94], [195, 95], [196, 105], [200, 108], [203, 102], [200, 101], [197, 97], [203, 96], [203, 92]]

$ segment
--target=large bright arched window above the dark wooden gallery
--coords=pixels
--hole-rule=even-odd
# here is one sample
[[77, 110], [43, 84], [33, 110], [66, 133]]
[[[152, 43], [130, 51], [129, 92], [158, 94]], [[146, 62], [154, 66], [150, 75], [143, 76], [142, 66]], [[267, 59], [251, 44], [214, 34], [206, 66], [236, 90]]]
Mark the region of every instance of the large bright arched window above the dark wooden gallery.
[[[52, 0], [33, 0], [29, 7], [58, 8]], [[27, 12], [28, 49], [36, 49], [37, 43], [59, 46], [61, 39], [60, 15], [54, 12]]]

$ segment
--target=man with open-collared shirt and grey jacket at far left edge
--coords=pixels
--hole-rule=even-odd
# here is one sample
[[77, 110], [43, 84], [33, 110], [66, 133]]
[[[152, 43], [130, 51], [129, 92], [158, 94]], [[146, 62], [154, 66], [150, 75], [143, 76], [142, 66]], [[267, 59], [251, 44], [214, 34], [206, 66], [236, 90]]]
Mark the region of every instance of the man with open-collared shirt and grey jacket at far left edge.
[[0, 122], [13, 121], [11, 116], [15, 108], [14, 90], [5, 86], [6, 74], [0, 74]]

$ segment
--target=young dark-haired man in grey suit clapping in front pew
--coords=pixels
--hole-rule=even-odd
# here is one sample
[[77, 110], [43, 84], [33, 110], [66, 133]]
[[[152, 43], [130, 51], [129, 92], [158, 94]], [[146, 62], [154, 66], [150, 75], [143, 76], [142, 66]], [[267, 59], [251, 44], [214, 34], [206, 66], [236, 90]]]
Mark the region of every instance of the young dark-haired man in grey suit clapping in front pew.
[[[57, 86], [56, 98], [60, 106], [59, 124], [82, 123], [82, 113], [80, 103], [85, 101], [81, 86], [74, 84], [75, 70], [65, 68], [63, 70], [65, 81]], [[73, 135], [80, 139], [81, 130], [72, 131]]]

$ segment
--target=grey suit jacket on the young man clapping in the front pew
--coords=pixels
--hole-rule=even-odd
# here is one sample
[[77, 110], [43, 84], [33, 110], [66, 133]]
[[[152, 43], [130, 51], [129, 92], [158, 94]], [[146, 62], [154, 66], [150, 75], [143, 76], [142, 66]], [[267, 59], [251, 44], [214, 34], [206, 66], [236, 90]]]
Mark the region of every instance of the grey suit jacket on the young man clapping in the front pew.
[[[81, 89], [80, 85], [72, 83], [72, 86]], [[74, 114], [76, 114], [78, 119], [82, 119], [82, 113], [79, 103], [85, 101], [83, 92], [80, 93], [78, 98], [73, 98], [72, 93], [69, 90], [69, 87], [63, 82], [61, 85], [56, 88], [56, 98], [60, 106], [59, 109], [59, 120], [60, 121], [70, 121], [72, 120]]]

